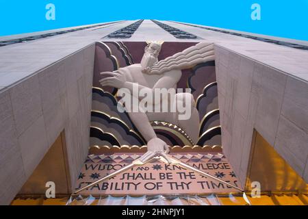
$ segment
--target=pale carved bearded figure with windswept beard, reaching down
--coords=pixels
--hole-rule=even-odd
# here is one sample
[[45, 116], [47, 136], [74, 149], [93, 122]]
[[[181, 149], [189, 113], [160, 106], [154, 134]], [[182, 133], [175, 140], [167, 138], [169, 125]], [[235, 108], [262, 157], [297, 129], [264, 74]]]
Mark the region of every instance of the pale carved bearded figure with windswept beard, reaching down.
[[[131, 118], [131, 121], [136, 125], [138, 131], [142, 134], [147, 142], [148, 152], [146, 152], [142, 158], [142, 162], [146, 162], [153, 156], [159, 153], [166, 158], [168, 162], [169, 158], [166, 156], [169, 149], [166, 142], [157, 138], [150, 121], [166, 121], [172, 123], [183, 129], [188, 136], [196, 142], [198, 139], [198, 126], [199, 126], [199, 114], [194, 103], [194, 97], [188, 92], [181, 92], [174, 95], [162, 94], [160, 101], [156, 101], [156, 98], [151, 99], [147, 104], [147, 108], [151, 107], [163, 107], [162, 100], [167, 101], [170, 106], [174, 107], [175, 112], [144, 112], [144, 110], [138, 110], [133, 112], [130, 107], [133, 107], [136, 103], [140, 103], [144, 96], [140, 96], [138, 93], [133, 92], [133, 88], [137, 87], [146, 94], [153, 94], [155, 97], [155, 90], [157, 89], [170, 89], [177, 88], [177, 83], [181, 79], [181, 69], [191, 68], [196, 64], [214, 60], [214, 46], [213, 44], [201, 42], [194, 47], [185, 49], [181, 53], [172, 55], [158, 62], [158, 55], [162, 48], [162, 45], [157, 42], [151, 42], [145, 49], [140, 64], [133, 64], [126, 66], [125, 68], [119, 68], [114, 72], [101, 73], [104, 77], [100, 80], [101, 86], [112, 86], [114, 88], [125, 88], [125, 96], [129, 95], [132, 103], [125, 105], [125, 109]], [[159, 94], [160, 95], [160, 94]], [[177, 105], [188, 104], [190, 105], [190, 118], [185, 120], [179, 120], [179, 116], [182, 112], [177, 111]], [[150, 106], [149, 106], [150, 105]], [[140, 107], [140, 105], [138, 105]], [[154, 111], [154, 110], [153, 110]]]

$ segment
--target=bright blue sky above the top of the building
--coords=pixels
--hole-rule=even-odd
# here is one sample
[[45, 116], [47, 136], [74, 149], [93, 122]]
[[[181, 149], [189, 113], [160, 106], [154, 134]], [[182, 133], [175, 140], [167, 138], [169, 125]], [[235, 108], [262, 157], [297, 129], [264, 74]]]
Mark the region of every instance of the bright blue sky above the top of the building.
[[[154, 18], [182, 21], [257, 34], [308, 40], [308, 0], [0, 0], [0, 36], [116, 20]], [[47, 21], [45, 5], [55, 5]], [[261, 21], [251, 19], [251, 5], [261, 5]]]

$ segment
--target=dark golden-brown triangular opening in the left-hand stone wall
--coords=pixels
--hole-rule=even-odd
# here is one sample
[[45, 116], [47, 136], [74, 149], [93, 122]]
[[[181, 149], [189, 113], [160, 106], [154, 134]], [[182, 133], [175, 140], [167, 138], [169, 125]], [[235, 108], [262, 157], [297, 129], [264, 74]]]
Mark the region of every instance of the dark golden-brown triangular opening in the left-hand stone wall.
[[48, 181], [55, 183], [55, 194], [70, 194], [64, 132], [55, 140], [18, 194], [45, 194]]

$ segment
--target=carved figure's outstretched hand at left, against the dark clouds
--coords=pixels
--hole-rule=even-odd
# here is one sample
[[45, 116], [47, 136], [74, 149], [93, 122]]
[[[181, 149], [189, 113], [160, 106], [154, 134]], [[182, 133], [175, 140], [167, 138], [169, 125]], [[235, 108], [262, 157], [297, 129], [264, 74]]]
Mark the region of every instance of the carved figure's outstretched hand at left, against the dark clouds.
[[101, 80], [99, 80], [99, 83], [101, 83], [101, 86], [111, 86], [114, 88], [123, 88], [125, 83], [125, 73], [123, 71], [114, 71], [114, 72], [105, 72], [101, 73], [101, 75], [110, 75], [112, 77], [105, 77]]

